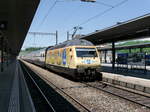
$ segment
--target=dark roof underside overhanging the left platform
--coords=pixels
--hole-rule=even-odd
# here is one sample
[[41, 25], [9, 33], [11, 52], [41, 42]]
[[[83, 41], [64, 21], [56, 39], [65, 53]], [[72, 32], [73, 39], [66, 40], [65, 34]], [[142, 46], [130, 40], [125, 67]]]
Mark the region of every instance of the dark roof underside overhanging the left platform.
[[[18, 55], [40, 0], [0, 0], [0, 37], [10, 54]], [[0, 43], [1, 45], [1, 43]], [[1, 49], [1, 47], [0, 47]]]

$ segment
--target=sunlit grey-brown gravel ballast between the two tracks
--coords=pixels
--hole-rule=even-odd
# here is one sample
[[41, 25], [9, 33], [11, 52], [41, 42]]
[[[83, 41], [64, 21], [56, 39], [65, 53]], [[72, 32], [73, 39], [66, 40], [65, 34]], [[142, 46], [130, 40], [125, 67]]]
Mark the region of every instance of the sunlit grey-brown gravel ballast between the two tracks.
[[57, 87], [62, 88], [86, 107], [89, 107], [92, 112], [150, 112], [150, 109], [141, 105], [87, 87], [83, 83], [68, 80], [33, 64], [24, 63], [42, 77], [47, 78]]

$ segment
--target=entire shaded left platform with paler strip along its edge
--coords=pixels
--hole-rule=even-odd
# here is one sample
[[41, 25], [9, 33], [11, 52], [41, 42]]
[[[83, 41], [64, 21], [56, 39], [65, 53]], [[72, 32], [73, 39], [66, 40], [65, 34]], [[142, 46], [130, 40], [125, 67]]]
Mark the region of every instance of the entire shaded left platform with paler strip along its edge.
[[35, 111], [17, 60], [4, 65], [4, 71], [0, 72], [0, 109], [1, 112]]

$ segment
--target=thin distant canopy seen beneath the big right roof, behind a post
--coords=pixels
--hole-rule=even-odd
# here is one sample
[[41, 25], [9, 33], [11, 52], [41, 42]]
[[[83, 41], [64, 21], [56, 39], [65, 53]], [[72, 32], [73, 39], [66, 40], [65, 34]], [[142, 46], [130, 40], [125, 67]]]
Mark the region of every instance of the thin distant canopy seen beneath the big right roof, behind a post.
[[[135, 49], [135, 48], [147, 48], [150, 47], [150, 43], [144, 43], [144, 44], [135, 44], [135, 45], [126, 45], [126, 46], [116, 46], [115, 49], [116, 50], [121, 50], [121, 49]], [[112, 50], [112, 47], [97, 47], [98, 50], [101, 51], [108, 51], [108, 50]]]

